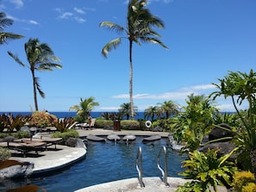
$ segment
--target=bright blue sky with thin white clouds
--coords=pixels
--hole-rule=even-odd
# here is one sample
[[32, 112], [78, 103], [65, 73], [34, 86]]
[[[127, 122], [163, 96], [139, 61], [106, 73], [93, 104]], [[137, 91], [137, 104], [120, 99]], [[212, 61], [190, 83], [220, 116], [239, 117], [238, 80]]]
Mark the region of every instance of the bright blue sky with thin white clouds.
[[[134, 105], [139, 111], [168, 100], [185, 106], [191, 93], [209, 95], [228, 71], [255, 71], [255, 0], [151, 0], [147, 8], [165, 22], [156, 29], [169, 47], [134, 44]], [[123, 0], [0, 0], [0, 10], [14, 20], [4, 32], [22, 34], [0, 49], [0, 111], [34, 110], [32, 77], [11, 59], [28, 64], [24, 44], [38, 38], [52, 47], [63, 69], [36, 72], [46, 98], [39, 109], [68, 111], [80, 98], [95, 97], [95, 111], [116, 111], [128, 97], [128, 40], [104, 59], [103, 46], [119, 36], [103, 21], [126, 27]], [[234, 111], [230, 100], [215, 105]], [[246, 105], [242, 108], [247, 108]]]

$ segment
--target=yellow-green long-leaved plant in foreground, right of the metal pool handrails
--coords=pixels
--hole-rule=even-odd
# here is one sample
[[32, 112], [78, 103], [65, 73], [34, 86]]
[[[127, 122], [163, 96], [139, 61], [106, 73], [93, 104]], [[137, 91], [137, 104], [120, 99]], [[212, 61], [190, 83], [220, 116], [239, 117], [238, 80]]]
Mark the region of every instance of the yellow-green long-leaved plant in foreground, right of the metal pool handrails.
[[236, 167], [234, 163], [227, 161], [228, 155], [217, 158], [217, 152], [217, 150], [209, 150], [206, 153], [189, 152], [189, 159], [183, 162], [183, 167], [186, 170], [180, 175], [192, 179], [194, 182], [180, 187], [179, 191], [185, 191], [184, 189], [188, 187], [191, 189], [187, 191], [209, 191], [209, 186], [216, 191], [217, 185], [231, 184]]

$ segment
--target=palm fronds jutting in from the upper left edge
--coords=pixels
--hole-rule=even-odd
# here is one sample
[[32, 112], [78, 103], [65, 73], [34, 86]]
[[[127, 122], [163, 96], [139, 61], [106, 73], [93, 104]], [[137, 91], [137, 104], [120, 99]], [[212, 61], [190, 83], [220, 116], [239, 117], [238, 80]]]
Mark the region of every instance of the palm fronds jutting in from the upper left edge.
[[6, 17], [5, 13], [0, 12], [0, 45], [7, 43], [8, 40], [21, 39], [24, 36], [3, 32], [3, 29], [13, 24], [13, 20]]

